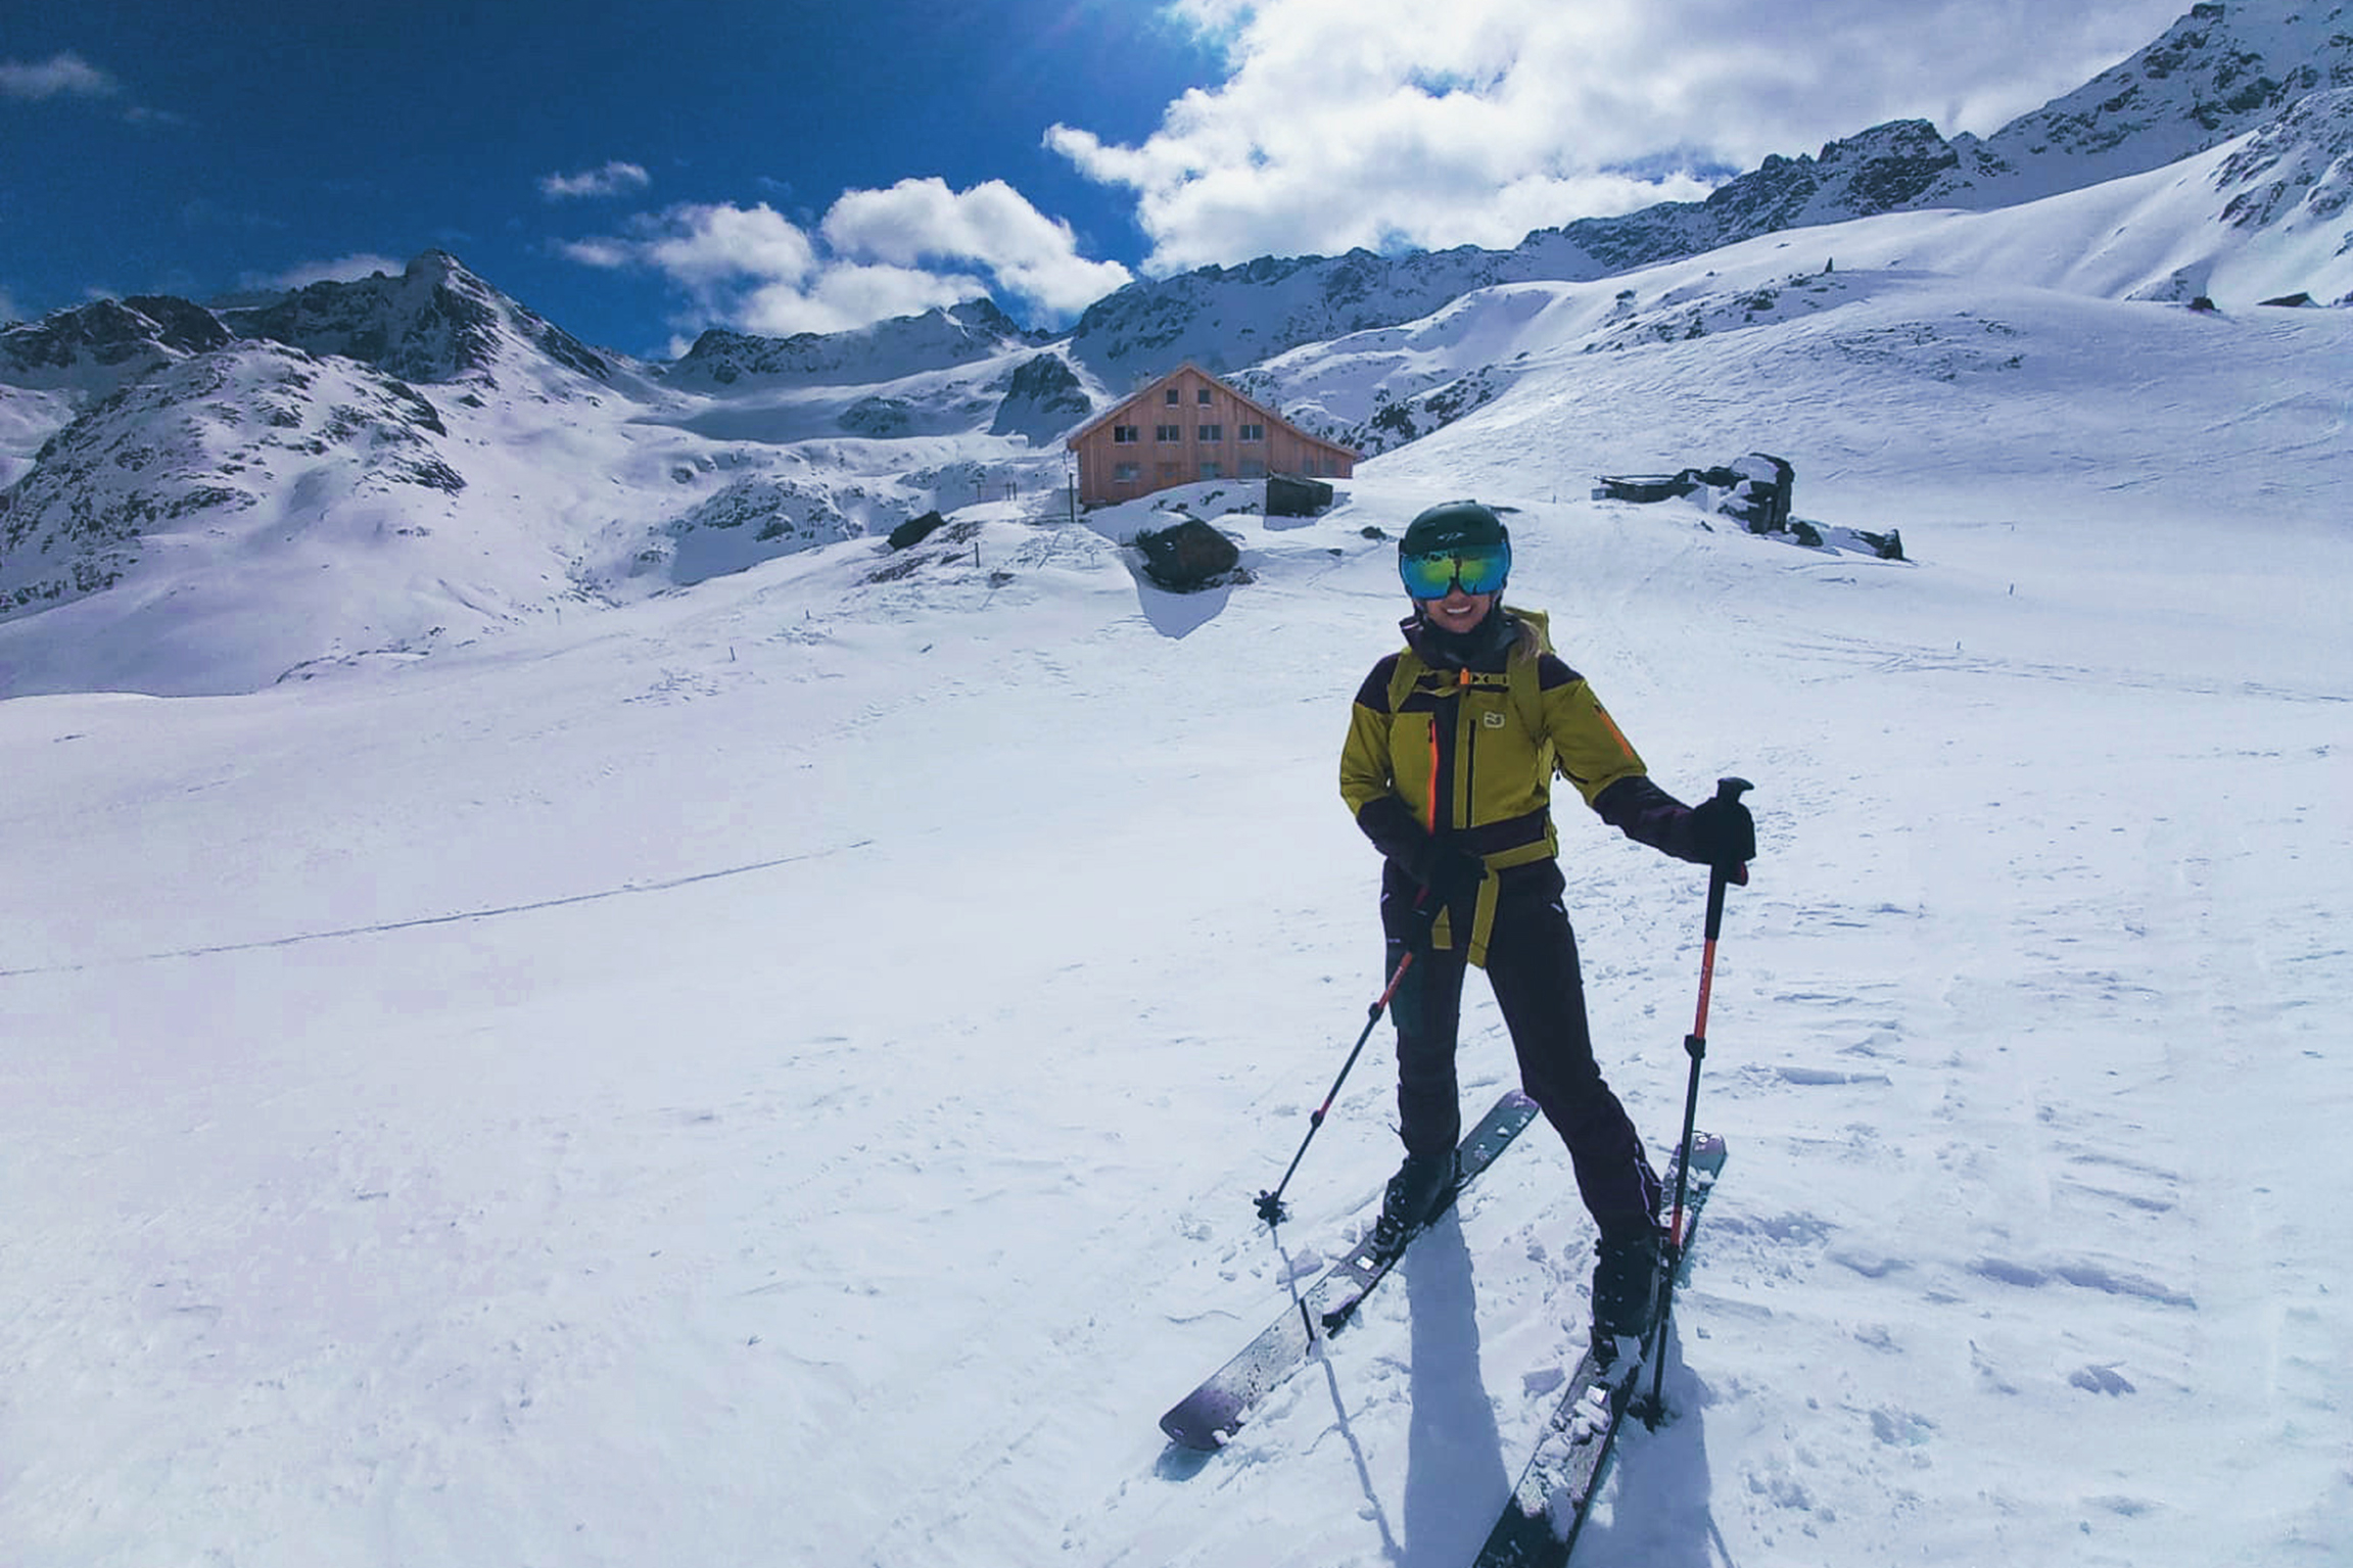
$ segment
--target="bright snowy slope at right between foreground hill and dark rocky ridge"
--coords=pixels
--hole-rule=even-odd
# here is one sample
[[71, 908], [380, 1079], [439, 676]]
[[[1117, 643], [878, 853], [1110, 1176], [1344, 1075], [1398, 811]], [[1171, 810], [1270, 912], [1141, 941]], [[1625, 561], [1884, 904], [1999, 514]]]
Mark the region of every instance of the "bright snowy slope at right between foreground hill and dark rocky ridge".
[[[1767, 233], [1598, 282], [1480, 289], [1419, 322], [1294, 348], [1240, 383], [1358, 451], [1391, 451], [1520, 381], [1572, 376], [1565, 355], [1769, 331], [1922, 268], [1984, 280], [1988, 299], [2024, 284], [2177, 306], [2217, 294], [2311, 303], [2313, 292], [2353, 292], [2348, 193], [2353, 89], [2318, 92], [2240, 141], [2148, 174], [2021, 207]], [[1922, 322], [1922, 350], [1944, 336]]]

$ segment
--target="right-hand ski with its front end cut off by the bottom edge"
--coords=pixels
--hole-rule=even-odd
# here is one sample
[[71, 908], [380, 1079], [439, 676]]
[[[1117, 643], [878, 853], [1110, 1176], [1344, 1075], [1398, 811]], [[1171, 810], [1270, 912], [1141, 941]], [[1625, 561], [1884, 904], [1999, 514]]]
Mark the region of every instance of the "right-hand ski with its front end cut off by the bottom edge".
[[[1699, 1211], [1722, 1168], [1725, 1140], [1715, 1133], [1694, 1135], [1692, 1187], [1682, 1208], [1682, 1241], [1675, 1258], [1678, 1279], [1692, 1258]], [[1675, 1173], [1668, 1171], [1666, 1190], [1673, 1192], [1673, 1187]], [[1652, 1354], [1666, 1354], [1666, 1347], [1657, 1345]], [[1513, 1488], [1504, 1514], [1487, 1535], [1475, 1568], [1562, 1568], [1569, 1561], [1577, 1530], [1584, 1528], [1593, 1493], [1600, 1490], [1609, 1446], [1626, 1420], [1626, 1408], [1635, 1401], [1635, 1385], [1645, 1366], [1640, 1354], [1600, 1359], [1588, 1349], [1579, 1359], [1577, 1373], [1553, 1408], [1553, 1420], [1537, 1441], [1537, 1453], [1520, 1472], [1520, 1486]]]

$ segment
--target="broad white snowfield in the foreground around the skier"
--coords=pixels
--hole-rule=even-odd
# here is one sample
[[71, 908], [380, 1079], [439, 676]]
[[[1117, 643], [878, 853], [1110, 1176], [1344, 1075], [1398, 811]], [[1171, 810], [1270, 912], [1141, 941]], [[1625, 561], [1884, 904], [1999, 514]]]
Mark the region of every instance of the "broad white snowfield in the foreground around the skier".
[[[1675, 1418], [1577, 1561], [2346, 1561], [2353, 331], [1842, 289], [1605, 353], [1539, 310], [1325, 517], [1176, 491], [1245, 545], [1205, 595], [1136, 576], [1151, 505], [981, 505], [0, 703], [0, 1556], [1466, 1563], [1584, 1345], [1541, 1126], [1231, 1448], [1155, 1418], [1395, 1164], [1381, 1030], [1254, 1215], [1379, 990], [1334, 769], [1393, 538], [1475, 494], [1652, 773], [1760, 823]], [[1586, 498], [1751, 447], [1908, 559]], [[1664, 1157], [1704, 875], [1555, 804]]]

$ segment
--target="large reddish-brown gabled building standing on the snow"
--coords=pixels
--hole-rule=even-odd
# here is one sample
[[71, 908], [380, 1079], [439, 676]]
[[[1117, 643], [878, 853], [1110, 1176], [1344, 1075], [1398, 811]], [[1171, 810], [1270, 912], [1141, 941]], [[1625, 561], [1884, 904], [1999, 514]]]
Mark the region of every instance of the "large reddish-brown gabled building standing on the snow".
[[1078, 454], [1080, 505], [1132, 501], [1195, 480], [1346, 480], [1358, 458], [1191, 360], [1087, 421], [1064, 444]]

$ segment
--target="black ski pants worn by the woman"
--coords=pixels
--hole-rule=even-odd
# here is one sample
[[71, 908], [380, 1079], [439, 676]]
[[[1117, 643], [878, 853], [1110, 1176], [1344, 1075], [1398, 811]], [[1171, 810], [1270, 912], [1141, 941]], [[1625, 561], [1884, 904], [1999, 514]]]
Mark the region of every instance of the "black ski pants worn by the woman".
[[[1567, 884], [1560, 865], [1539, 860], [1499, 877], [1487, 983], [1520, 1058], [1520, 1086], [1569, 1145], [1577, 1192], [1600, 1232], [1640, 1234], [1657, 1222], [1659, 1178], [1633, 1119], [1593, 1060], [1586, 985], [1577, 969], [1577, 933], [1562, 903]], [[1414, 893], [1417, 886], [1402, 872], [1384, 877], [1384, 973], [1395, 973], [1407, 940], [1421, 931]], [[1468, 952], [1461, 943], [1424, 947], [1391, 997], [1398, 1025], [1398, 1131], [1407, 1154], [1445, 1154], [1461, 1138], [1454, 1046], [1466, 969]]]

